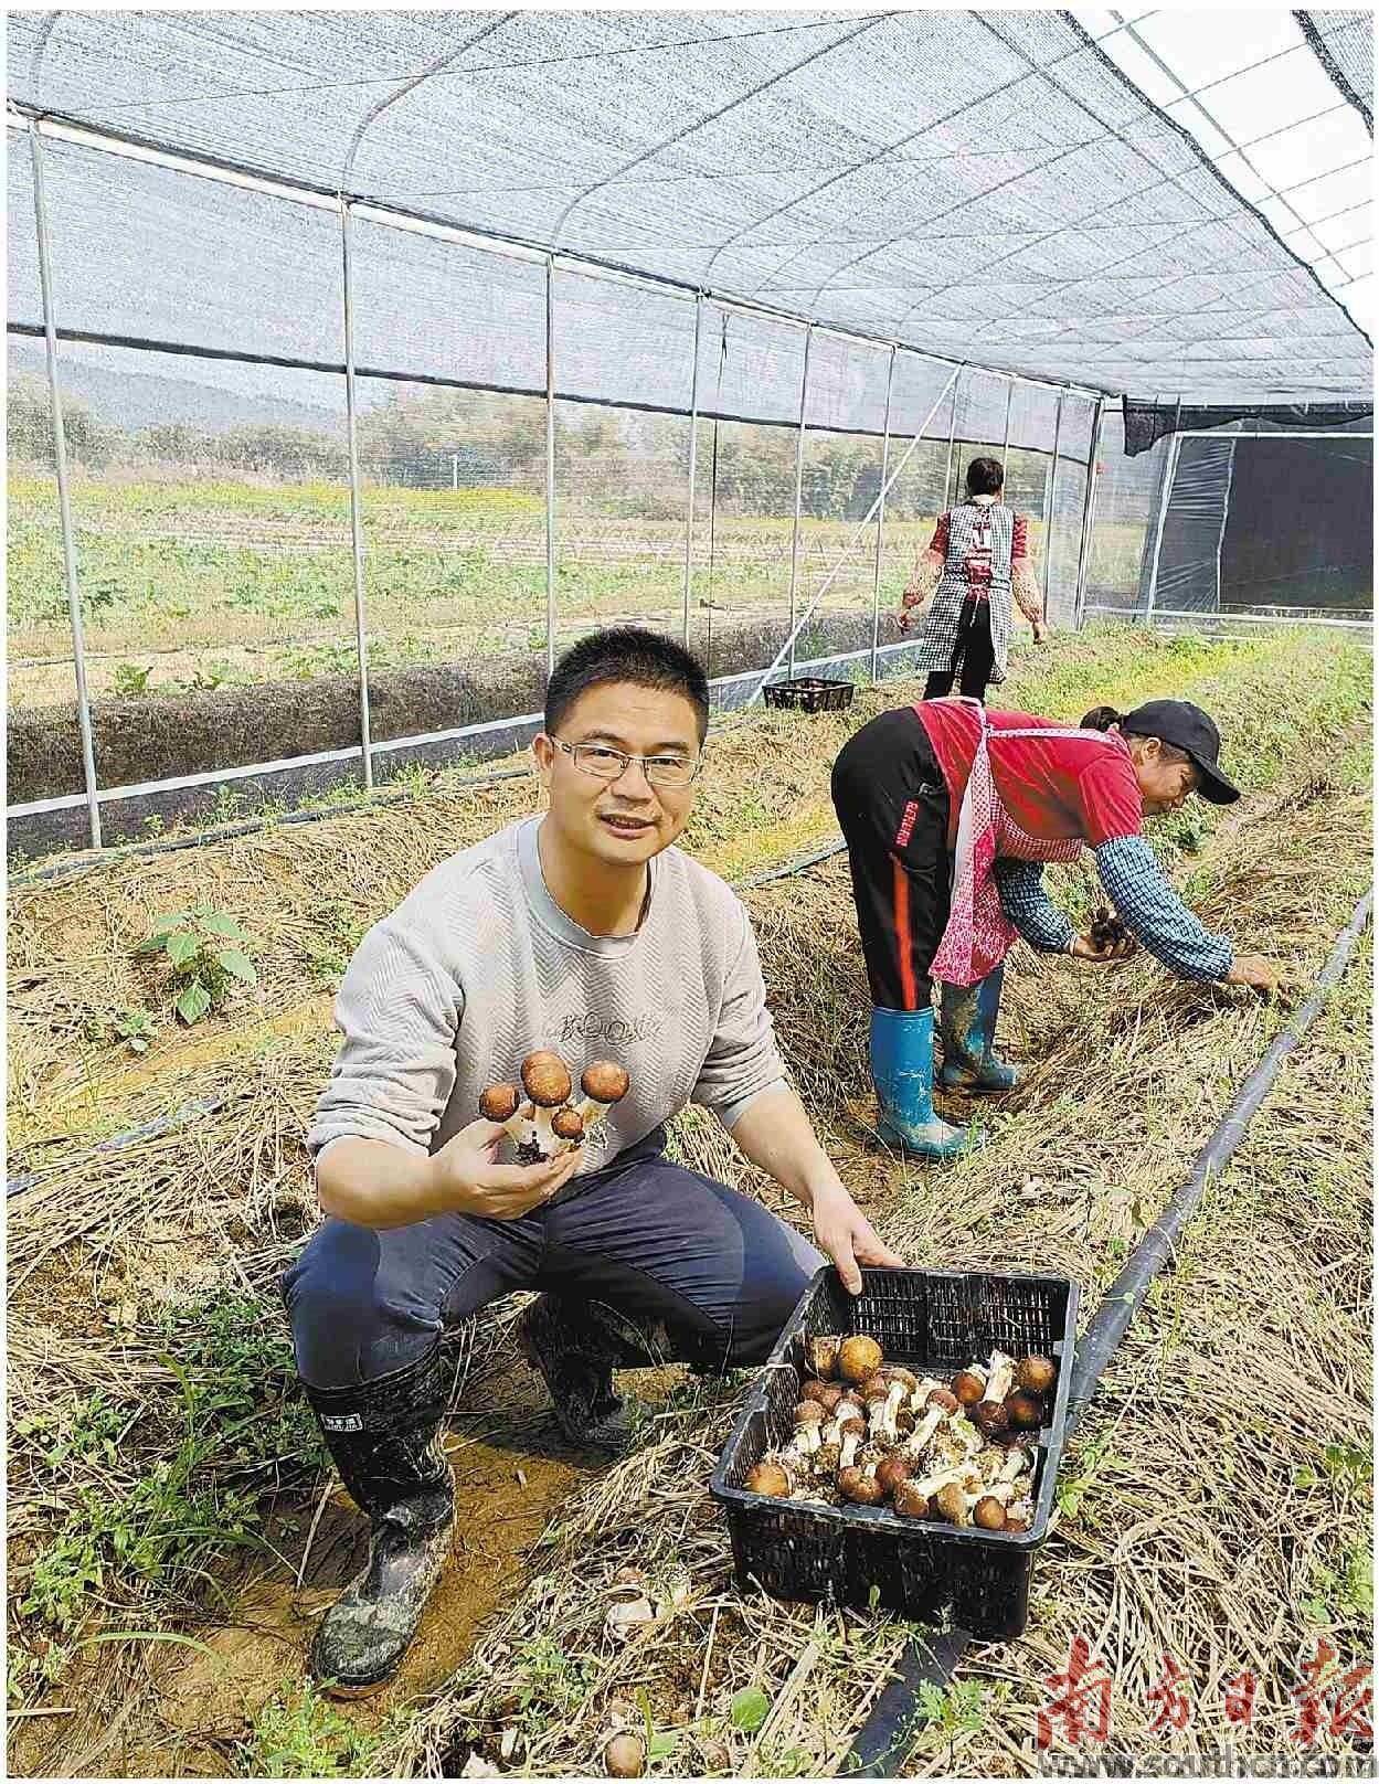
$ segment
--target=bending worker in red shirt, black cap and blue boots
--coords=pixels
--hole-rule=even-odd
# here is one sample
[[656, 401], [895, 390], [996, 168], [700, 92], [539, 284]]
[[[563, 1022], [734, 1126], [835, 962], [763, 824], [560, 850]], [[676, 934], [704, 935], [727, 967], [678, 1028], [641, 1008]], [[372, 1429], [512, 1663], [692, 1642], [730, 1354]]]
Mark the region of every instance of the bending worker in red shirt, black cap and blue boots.
[[1144, 840], [1147, 817], [1190, 794], [1229, 805], [1220, 733], [1201, 706], [1151, 699], [1088, 712], [1079, 726], [976, 699], [926, 699], [863, 724], [833, 765], [862, 954], [872, 995], [879, 1131], [926, 1158], [965, 1149], [933, 1111], [933, 979], [942, 1083], [1013, 1088], [992, 1049], [1003, 962], [1017, 937], [1042, 953], [1117, 960], [1133, 946], [1078, 935], [1044, 890], [1044, 863], [1095, 855], [1106, 896], [1156, 960], [1188, 979], [1272, 990], [1276, 969], [1208, 933]]

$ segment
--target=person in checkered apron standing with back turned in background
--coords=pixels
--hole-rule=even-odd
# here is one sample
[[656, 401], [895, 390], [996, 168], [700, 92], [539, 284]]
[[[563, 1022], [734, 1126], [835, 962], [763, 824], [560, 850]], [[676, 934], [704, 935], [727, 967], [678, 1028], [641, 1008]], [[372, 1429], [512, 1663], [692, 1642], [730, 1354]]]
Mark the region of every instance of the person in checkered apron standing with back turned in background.
[[1044, 596], [1029, 560], [1028, 521], [1003, 501], [1006, 473], [999, 458], [967, 466], [967, 501], [938, 516], [928, 551], [901, 596], [901, 632], [913, 608], [922, 615], [919, 669], [928, 669], [924, 699], [960, 692], [985, 699], [992, 681], [1006, 680], [1012, 599], [1042, 644]]

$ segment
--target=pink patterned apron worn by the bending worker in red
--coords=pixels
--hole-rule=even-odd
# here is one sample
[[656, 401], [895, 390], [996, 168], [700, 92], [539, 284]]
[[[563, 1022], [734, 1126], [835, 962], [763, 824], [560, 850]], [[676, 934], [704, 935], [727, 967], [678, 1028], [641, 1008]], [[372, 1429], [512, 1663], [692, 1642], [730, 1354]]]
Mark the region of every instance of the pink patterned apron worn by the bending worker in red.
[[[958, 808], [958, 846], [947, 928], [929, 967], [929, 976], [944, 979], [947, 985], [976, 985], [985, 979], [988, 972], [995, 972], [1013, 942], [1019, 940], [1019, 929], [1001, 908], [1001, 892], [994, 872], [997, 856], [1013, 856], [1020, 862], [1076, 862], [1083, 851], [1081, 837], [1049, 842], [1020, 830], [1001, 805], [992, 778], [987, 749], [990, 737], [987, 708], [978, 699], [963, 699], [963, 705], [976, 710], [981, 721], [981, 737]], [[1072, 724], [997, 731], [997, 737], [1081, 735], [1085, 733]]]

